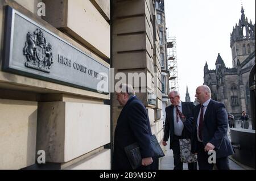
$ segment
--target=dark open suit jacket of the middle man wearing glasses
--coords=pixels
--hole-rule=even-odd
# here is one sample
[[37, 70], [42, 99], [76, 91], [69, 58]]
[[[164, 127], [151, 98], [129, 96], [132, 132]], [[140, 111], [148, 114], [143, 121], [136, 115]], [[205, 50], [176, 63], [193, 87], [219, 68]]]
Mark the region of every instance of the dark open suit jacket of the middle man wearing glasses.
[[[181, 102], [182, 113], [187, 119], [193, 117], [193, 108], [195, 107], [192, 102]], [[192, 133], [192, 125], [184, 124], [182, 137], [190, 138]], [[172, 139], [174, 137], [174, 106], [166, 107], [166, 121], [164, 125], [164, 141], [168, 141], [170, 136], [170, 149], [172, 149]]]

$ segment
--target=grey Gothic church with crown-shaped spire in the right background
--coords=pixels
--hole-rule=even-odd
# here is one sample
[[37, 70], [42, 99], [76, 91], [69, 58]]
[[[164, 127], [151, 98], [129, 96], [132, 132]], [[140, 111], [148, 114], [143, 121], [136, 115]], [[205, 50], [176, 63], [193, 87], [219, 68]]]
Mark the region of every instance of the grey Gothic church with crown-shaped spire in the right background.
[[239, 24], [230, 37], [233, 68], [226, 68], [220, 54], [216, 69], [204, 66], [204, 85], [212, 90], [212, 98], [225, 104], [228, 112], [239, 118], [242, 111], [250, 115], [249, 74], [255, 64], [255, 24], [248, 22], [241, 10]]

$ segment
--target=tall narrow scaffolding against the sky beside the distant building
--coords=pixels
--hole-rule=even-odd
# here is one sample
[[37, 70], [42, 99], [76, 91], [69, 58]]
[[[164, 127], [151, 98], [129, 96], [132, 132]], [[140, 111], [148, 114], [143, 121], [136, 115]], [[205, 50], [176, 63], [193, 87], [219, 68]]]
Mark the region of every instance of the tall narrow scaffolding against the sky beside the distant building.
[[177, 71], [177, 53], [176, 53], [176, 37], [168, 37], [167, 41], [168, 53], [168, 69], [170, 71], [169, 84], [170, 91], [179, 91], [178, 71]]

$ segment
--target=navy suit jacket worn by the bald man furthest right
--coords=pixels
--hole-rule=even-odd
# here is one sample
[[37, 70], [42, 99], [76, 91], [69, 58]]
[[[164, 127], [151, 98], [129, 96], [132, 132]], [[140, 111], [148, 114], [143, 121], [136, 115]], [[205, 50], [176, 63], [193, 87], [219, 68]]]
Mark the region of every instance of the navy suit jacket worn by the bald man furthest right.
[[[197, 117], [199, 116], [201, 104], [195, 107], [192, 133], [192, 153], [197, 153]], [[202, 130], [204, 146], [210, 142], [215, 146], [216, 157], [222, 158], [234, 154], [234, 149], [228, 138], [228, 113], [224, 104], [210, 100], [204, 115]]]

